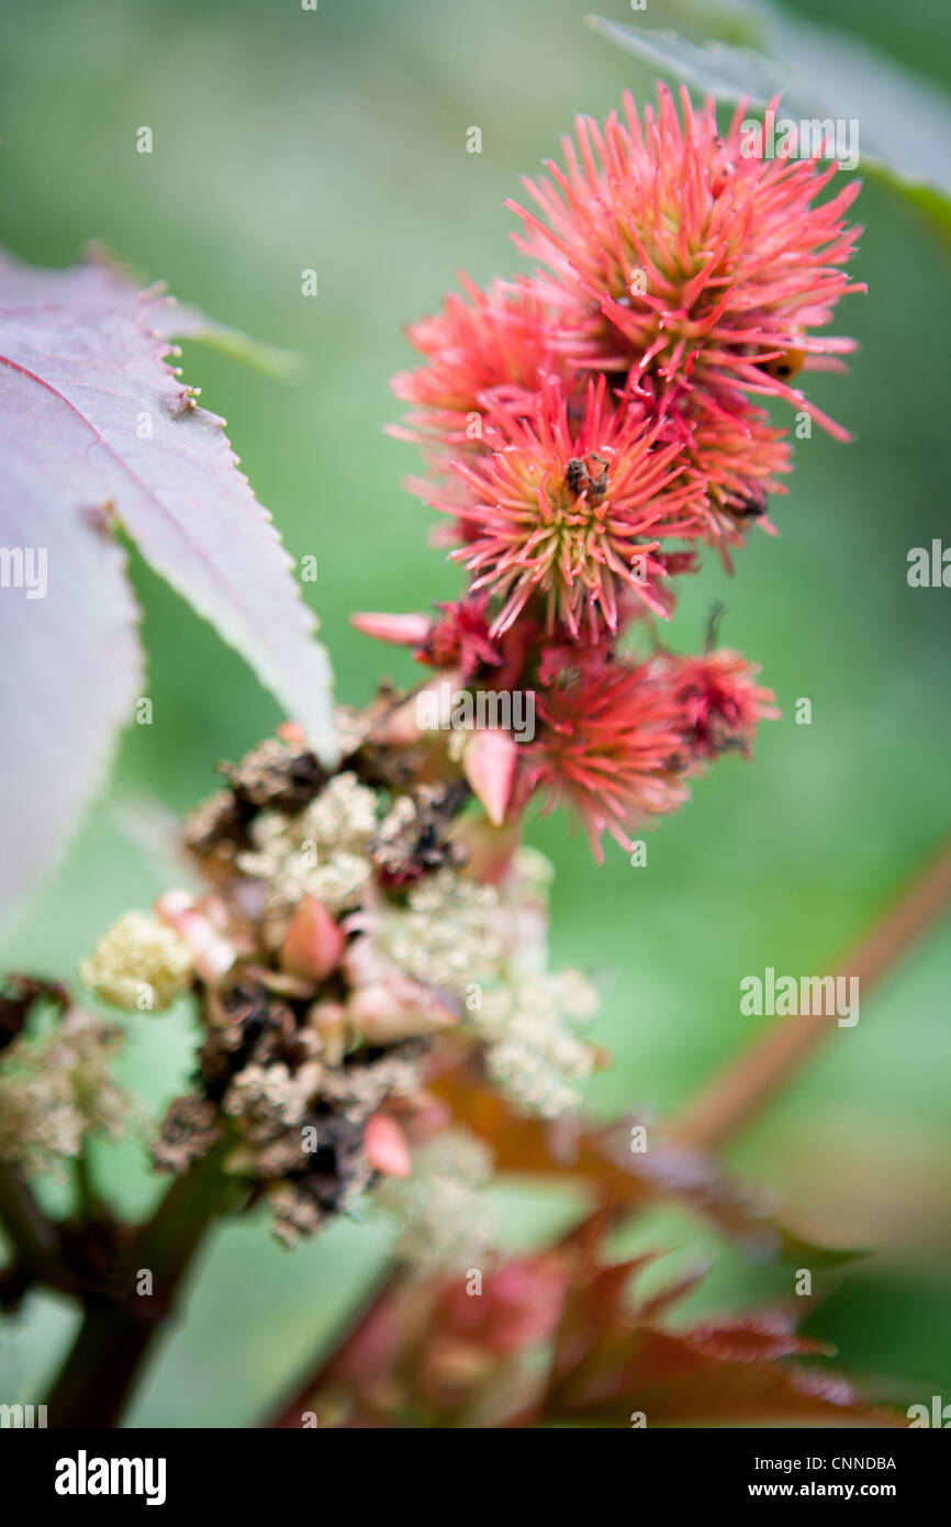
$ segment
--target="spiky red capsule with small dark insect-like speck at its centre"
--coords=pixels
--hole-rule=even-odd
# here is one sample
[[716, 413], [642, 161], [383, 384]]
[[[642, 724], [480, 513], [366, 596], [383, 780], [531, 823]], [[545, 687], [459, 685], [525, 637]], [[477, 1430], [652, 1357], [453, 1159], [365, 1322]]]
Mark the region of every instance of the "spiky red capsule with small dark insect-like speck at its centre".
[[577, 421], [553, 379], [531, 415], [492, 415], [488, 449], [455, 463], [456, 493], [430, 495], [464, 516], [466, 544], [452, 556], [473, 574], [472, 589], [501, 600], [492, 637], [531, 605], [550, 632], [563, 621], [577, 637], [585, 621], [594, 640], [617, 631], [624, 591], [667, 614], [653, 553], [661, 538], [698, 536], [704, 522], [699, 486], [682, 478], [681, 444], [664, 443], [662, 428], [614, 408], [604, 377], [589, 383]]

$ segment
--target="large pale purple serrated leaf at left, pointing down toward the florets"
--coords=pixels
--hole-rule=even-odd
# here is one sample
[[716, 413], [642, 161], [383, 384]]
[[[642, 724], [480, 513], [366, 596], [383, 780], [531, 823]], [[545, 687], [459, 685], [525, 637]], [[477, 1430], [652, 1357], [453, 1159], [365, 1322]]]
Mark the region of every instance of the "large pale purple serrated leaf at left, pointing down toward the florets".
[[0, 257], [0, 915], [66, 846], [140, 686], [122, 527], [333, 756], [330, 664], [270, 515], [166, 362], [174, 305]]

